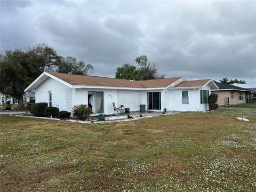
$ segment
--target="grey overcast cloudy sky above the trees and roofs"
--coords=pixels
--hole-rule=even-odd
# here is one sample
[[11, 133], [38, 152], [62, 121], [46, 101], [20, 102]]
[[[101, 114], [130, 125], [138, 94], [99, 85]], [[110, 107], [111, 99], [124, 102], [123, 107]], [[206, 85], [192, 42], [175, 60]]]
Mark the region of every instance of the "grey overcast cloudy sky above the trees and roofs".
[[146, 54], [166, 77], [256, 85], [256, 1], [2, 1], [1, 46], [47, 43], [115, 76]]

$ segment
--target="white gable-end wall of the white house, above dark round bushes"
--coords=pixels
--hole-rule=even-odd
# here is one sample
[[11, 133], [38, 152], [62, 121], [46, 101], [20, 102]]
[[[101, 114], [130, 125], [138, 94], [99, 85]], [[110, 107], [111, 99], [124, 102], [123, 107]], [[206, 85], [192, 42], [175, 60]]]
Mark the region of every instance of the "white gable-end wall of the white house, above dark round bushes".
[[60, 111], [66, 110], [65, 89], [70, 88], [52, 78], [47, 78], [40, 86], [36, 87], [36, 103], [48, 103], [48, 91], [52, 91], [52, 106], [59, 105]]

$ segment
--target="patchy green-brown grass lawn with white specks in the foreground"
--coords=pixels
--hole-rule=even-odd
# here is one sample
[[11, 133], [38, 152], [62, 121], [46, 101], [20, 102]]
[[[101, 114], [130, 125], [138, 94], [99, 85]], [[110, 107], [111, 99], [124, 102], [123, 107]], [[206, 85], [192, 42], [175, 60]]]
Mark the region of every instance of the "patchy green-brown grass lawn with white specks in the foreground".
[[255, 138], [256, 108], [100, 125], [2, 115], [1, 191], [255, 191]]

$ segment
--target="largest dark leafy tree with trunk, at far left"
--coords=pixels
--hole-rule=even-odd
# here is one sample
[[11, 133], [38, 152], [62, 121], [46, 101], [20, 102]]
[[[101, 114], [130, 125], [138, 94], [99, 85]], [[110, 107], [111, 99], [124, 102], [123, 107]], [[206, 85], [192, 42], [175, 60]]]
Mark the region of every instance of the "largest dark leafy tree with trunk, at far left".
[[1, 50], [0, 92], [18, 98], [18, 108], [24, 108], [23, 93], [43, 71], [55, 71], [59, 65], [55, 50], [37, 44], [24, 50]]

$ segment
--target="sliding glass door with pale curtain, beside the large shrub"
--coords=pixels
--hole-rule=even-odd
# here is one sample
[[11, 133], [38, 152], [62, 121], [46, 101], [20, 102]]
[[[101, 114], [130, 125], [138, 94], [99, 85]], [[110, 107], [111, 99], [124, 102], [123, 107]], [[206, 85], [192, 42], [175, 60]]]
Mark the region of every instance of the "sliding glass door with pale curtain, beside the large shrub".
[[103, 92], [89, 91], [88, 92], [88, 105], [92, 108], [93, 114], [104, 113], [103, 107]]

